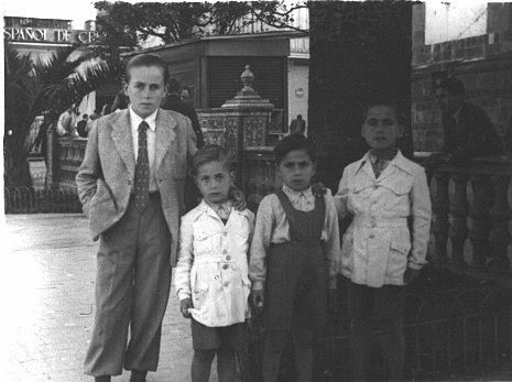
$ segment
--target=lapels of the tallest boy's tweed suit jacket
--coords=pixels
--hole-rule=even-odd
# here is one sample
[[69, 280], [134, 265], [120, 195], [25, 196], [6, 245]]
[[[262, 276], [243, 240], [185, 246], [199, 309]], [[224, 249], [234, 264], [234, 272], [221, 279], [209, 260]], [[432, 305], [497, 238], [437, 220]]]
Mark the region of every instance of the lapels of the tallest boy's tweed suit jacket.
[[[153, 167], [156, 172], [166, 152], [174, 146], [176, 138], [176, 121], [171, 116], [164, 116], [164, 111], [159, 109], [155, 119], [155, 151]], [[130, 111], [122, 110], [112, 116], [112, 140], [116, 150], [124, 162], [130, 178], [134, 177], [135, 154], [133, 153], [133, 140], [131, 134]]]

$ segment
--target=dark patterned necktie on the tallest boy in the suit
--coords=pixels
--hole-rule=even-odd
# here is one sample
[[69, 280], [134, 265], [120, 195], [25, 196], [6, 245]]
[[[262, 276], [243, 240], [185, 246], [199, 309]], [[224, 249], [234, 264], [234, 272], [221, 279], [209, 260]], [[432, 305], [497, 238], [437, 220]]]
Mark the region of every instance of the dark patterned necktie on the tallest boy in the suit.
[[143, 210], [150, 200], [150, 162], [148, 159], [148, 129], [149, 124], [142, 121], [139, 124], [139, 151], [135, 164], [135, 207]]

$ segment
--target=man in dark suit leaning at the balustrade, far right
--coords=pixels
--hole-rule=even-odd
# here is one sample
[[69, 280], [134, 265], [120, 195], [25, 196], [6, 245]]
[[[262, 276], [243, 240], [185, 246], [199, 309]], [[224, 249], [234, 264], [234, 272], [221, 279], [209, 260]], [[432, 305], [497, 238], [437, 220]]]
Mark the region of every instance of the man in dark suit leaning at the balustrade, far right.
[[460, 162], [500, 155], [503, 149], [489, 116], [478, 106], [466, 102], [465, 94], [464, 84], [457, 78], [445, 78], [436, 84], [445, 133], [444, 160]]

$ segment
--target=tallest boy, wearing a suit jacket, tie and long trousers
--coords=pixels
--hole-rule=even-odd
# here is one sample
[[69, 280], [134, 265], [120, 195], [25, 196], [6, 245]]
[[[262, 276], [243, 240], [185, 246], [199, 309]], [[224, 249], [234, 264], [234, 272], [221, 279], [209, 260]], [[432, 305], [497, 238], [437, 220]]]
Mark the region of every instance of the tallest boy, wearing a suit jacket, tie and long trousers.
[[196, 151], [190, 121], [159, 108], [165, 63], [139, 55], [126, 76], [130, 106], [98, 120], [76, 177], [92, 237], [100, 240], [85, 372], [101, 382], [122, 367], [132, 382], [156, 370], [187, 163]]

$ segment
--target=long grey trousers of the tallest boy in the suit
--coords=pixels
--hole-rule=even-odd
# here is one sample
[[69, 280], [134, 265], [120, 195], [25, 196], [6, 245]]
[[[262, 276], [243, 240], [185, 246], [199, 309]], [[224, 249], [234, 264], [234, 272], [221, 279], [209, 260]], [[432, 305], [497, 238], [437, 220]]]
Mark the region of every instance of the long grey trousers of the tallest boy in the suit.
[[123, 365], [156, 370], [171, 287], [170, 251], [171, 233], [157, 195], [150, 196], [143, 212], [130, 201], [121, 220], [101, 234], [86, 374], [119, 375]]

